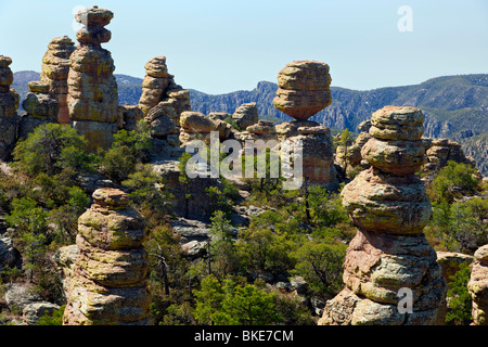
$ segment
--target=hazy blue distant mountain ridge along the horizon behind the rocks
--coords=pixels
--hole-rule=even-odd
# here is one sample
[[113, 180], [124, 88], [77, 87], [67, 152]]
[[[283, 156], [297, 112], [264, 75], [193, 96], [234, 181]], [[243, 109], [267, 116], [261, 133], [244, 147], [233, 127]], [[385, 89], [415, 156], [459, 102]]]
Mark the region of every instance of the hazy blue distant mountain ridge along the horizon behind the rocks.
[[[115, 74], [120, 104], [137, 104], [141, 95], [142, 78]], [[23, 100], [27, 82], [38, 80], [39, 73], [17, 72], [15, 88]], [[188, 86], [183, 86], [188, 88]], [[272, 100], [278, 86], [260, 81], [253, 90], [224, 94], [207, 94], [190, 89], [192, 110], [208, 114], [232, 114], [241, 104], [256, 102], [260, 115], [286, 121], [287, 115], [274, 108]], [[357, 131], [358, 125], [386, 105], [420, 107], [425, 115], [425, 137], [449, 138], [463, 145], [485, 175], [488, 174], [488, 74], [444, 76], [419, 85], [385, 87], [367, 91], [331, 87], [332, 104], [312, 117], [334, 129]]]

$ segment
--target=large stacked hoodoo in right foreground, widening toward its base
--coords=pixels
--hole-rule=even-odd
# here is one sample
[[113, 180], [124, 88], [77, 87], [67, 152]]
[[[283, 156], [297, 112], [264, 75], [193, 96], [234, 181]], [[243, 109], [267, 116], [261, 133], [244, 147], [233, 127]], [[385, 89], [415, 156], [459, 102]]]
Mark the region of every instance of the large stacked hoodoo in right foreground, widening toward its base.
[[444, 323], [446, 282], [423, 234], [431, 202], [413, 175], [423, 164], [422, 123], [415, 107], [373, 114], [372, 138], [361, 151], [371, 167], [341, 194], [358, 227], [344, 260], [345, 288], [326, 303], [320, 324]]

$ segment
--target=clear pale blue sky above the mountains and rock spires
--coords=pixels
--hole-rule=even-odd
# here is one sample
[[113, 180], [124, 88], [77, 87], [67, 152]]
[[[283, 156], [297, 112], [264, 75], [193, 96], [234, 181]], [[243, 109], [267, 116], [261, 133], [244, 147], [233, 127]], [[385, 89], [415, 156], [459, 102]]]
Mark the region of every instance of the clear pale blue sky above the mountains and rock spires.
[[275, 82], [296, 60], [325, 62], [332, 86], [359, 90], [488, 73], [487, 0], [0, 0], [0, 54], [40, 72], [52, 38], [75, 40], [74, 10], [95, 4], [114, 12], [103, 47], [116, 74], [143, 77], [165, 55], [177, 83], [207, 93]]

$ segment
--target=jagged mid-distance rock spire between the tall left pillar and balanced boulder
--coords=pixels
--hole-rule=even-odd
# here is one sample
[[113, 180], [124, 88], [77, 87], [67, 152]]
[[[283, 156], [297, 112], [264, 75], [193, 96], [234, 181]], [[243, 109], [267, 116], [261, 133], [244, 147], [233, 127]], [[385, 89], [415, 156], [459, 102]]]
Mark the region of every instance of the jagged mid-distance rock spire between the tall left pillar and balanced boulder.
[[165, 139], [178, 146], [180, 115], [191, 111], [190, 92], [177, 85], [175, 76], [168, 74], [165, 56], [153, 57], [144, 68], [139, 108], [153, 130], [154, 138]]

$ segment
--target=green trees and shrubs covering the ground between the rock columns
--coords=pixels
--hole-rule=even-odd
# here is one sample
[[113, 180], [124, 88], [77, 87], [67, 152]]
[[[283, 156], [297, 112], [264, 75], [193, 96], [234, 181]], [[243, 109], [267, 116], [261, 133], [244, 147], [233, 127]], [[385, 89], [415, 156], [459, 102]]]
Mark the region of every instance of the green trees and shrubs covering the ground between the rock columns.
[[[350, 132], [343, 131], [341, 142], [348, 139]], [[270, 178], [269, 166], [265, 177], [245, 182], [251, 190], [243, 195], [220, 178], [206, 189], [208, 244], [203, 256], [189, 259], [169, 224], [172, 197], [146, 163], [150, 150], [143, 124], [116, 133], [113, 146], [98, 154], [88, 153], [85, 139], [61, 125], [42, 126], [20, 142], [11, 165], [14, 175], [0, 174], [0, 207], [24, 266], [5, 268], [2, 283], [29, 281], [46, 300], [64, 304], [52, 256], [75, 242], [77, 220], [91, 202], [84, 182], [95, 175], [126, 191], [147, 220], [144, 247], [155, 324], [314, 324], [310, 303], [330, 299], [343, 288], [344, 257], [356, 233], [338, 192], [307, 183], [282, 190], [282, 178]], [[184, 175], [189, 158], [184, 153], [179, 163], [187, 204], [192, 197], [192, 181]], [[427, 185], [434, 208], [426, 235], [436, 249], [472, 254], [488, 242], [484, 190], [472, 168], [455, 163]], [[248, 224], [232, 221], [235, 205], [257, 210]], [[450, 324], [470, 321], [468, 275], [468, 268], [462, 268], [450, 286]], [[61, 324], [63, 310], [39, 324]]]

